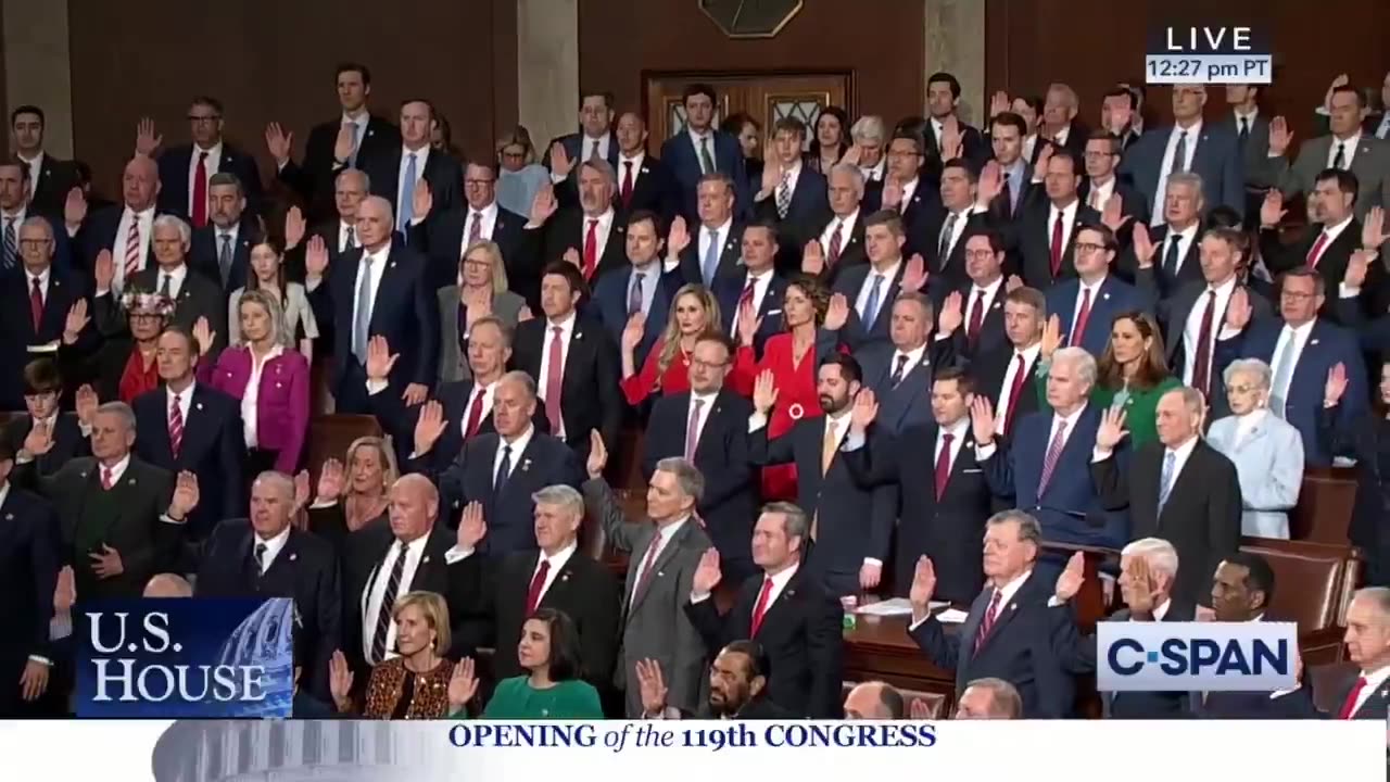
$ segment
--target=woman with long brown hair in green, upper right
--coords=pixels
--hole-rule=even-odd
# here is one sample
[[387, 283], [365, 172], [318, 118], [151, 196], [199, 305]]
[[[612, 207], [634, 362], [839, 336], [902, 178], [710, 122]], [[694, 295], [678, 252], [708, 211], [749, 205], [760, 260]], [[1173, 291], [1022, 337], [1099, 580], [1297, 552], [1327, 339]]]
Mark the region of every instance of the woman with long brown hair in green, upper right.
[[[1052, 353], [1062, 346], [1062, 326], [1054, 314], [1042, 327], [1036, 385], [1038, 401], [1047, 409], [1047, 372]], [[1126, 312], [1115, 317], [1111, 340], [1095, 366], [1095, 387], [1091, 404], [1099, 408], [1125, 410], [1125, 427], [1130, 445], [1138, 447], [1158, 440], [1155, 417], [1158, 399], [1183, 383], [1168, 372], [1163, 358], [1163, 335], [1154, 316], [1147, 312]]]

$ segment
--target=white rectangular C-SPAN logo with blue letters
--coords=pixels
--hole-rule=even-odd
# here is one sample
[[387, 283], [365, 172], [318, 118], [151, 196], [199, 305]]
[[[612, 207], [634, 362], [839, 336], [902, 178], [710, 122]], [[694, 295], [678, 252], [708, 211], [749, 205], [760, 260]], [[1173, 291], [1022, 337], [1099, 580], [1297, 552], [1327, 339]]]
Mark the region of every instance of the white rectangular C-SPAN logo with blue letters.
[[1275, 692], [1297, 686], [1293, 622], [1101, 622], [1101, 692]]

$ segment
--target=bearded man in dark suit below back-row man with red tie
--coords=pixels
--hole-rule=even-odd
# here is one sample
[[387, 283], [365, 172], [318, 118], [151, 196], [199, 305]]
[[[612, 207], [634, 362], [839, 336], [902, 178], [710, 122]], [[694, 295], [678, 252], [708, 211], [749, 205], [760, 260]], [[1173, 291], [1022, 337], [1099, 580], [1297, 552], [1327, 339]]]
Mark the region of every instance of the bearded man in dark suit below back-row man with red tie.
[[246, 285], [252, 246], [261, 241], [254, 216], [245, 214], [246, 195], [236, 174], [217, 173], [207, 182], [207, 225], [193, 230], [189, 267], [222, 287], [222, 295]]

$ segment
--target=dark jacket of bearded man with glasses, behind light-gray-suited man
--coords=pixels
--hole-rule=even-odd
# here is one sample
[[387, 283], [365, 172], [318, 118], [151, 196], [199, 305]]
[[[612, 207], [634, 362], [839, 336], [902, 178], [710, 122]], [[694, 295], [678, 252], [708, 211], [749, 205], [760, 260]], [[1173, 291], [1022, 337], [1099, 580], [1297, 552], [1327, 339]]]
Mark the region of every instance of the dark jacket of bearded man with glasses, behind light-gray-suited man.
[[[642, 474], [646, 480], [656, 472], [656, 462], [685, 455], [689, 409], [689, 391], [662, 397], [652, 406], [642, 448]], [[705, 476], [699, 516], [720, 555], [728, 559], [751, 558], [748, 545], [758, 505], [758, 481], [748, 463], [748, 416], [752, 412], [748, 399], [728, 388], [721, 390], [695, 445], [695, 466]]]

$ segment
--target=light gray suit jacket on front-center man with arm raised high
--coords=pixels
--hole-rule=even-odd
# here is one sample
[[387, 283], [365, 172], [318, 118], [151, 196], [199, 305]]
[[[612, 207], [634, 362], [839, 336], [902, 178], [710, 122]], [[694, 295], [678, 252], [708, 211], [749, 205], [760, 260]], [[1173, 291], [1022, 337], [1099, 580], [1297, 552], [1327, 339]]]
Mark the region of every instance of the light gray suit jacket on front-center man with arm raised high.
[[584, 498], [589, 513], [598, 516], [603, 533], [613, 548], [627, 551], [627, 580], [623, 586], [621, 654], [617, 658], [614, 685], [627, 690], [627, 717], [641, 718], [642, 697], [634, 682], [627, 686], [639, 660], [655, 660], [662, 665], [669, 694], [666, 703], [682, 711], [695, 711], [703, 703], [708, 686], [705, 641], [685, 616], [695, 568], [706, 550], [713, 548], [709, 536], [694, 519], [681, 523], [676, 537], [662, 547], [648, 584], [637, 587], [642, 561], [657, 534], [646, 518], [628, 520], [602, 479], [584, 483]]

